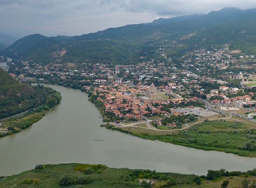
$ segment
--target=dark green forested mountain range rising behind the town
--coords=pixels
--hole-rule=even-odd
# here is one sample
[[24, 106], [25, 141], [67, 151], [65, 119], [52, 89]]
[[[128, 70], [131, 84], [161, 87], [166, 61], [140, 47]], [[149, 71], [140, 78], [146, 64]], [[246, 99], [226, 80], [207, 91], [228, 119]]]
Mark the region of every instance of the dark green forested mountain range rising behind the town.
[[[160, 18], [151, 23], [108, 28], [81, 36], [28, 35], [0, 54], [47, 65], [58, 62], [129, 64], [162, 48], [172, 57], [198, 48], [230, 43], [256, 54], [256, 9], [223, 8], [208, 14]], [[21, 58], [22, 57], [22, 58]]]

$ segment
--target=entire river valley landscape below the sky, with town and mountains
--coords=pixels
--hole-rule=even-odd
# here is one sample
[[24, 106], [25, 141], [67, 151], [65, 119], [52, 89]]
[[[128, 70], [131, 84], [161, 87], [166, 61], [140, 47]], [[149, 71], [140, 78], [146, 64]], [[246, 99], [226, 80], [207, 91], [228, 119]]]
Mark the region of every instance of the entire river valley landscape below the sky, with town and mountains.
[[2, 48], [0, 187], [253, 186], [255, 15], [223, 8]]

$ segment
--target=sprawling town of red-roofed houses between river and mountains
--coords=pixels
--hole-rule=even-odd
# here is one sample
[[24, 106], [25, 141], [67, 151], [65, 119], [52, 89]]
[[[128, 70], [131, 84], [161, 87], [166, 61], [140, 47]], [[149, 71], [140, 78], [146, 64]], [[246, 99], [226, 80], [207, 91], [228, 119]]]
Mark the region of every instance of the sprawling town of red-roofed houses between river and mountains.
[[[164, 49], [157, 49], [156, 54], [154, 59], [140, 57], [133, 65], [9, 62], [9, 72], [22, 82], [60, 84], [88, 92], [104, 122], [166, 119], [154, 122], [181, 128], [198, 116], [255, 110], [254, 55], [228, 51], [228, 44], [211, 51], [194, 50], [178, 60]], [[210, 106], [206, 108], [205, 103]], [[251, 121], [256, 118], [255, 112], [243, 114], [240, 117]]]

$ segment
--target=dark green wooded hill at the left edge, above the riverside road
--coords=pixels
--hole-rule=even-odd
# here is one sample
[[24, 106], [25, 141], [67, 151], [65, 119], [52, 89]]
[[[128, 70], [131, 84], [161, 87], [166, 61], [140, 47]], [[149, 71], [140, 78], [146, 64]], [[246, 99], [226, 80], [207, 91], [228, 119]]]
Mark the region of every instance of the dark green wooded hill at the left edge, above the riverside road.
[[43, 95], [40, 87], [20, 83], [0, 68], [0, 119], [34, 107]]

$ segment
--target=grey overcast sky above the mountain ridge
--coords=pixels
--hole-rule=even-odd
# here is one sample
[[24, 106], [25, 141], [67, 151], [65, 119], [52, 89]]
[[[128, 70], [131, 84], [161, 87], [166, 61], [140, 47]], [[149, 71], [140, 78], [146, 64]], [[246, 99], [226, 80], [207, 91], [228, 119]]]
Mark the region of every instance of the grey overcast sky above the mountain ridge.
[[82, 35], [224, 7], [256, 8], [255, 0], [0, 0], [0, 31], [21, 37]]

